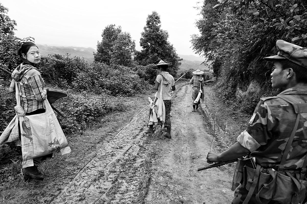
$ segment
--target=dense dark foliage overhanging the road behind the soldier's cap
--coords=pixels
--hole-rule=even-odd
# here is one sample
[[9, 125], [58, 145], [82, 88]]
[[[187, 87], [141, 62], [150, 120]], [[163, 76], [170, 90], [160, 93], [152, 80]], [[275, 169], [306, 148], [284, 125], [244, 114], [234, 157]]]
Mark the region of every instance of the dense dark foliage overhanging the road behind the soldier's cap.
[[278, 39], [307, 46], [306, 6], [305, 0], [204, 1], [203, 18], [196, 22], [200, 35], [193, 35], [191, 42], [208, 58], [226, 99], [238, 90], [248, 91], [251, 83], [258, 90], [243, 94], [247, 103], [272, 94], [272, 64], [262, 57], [277, 54]]

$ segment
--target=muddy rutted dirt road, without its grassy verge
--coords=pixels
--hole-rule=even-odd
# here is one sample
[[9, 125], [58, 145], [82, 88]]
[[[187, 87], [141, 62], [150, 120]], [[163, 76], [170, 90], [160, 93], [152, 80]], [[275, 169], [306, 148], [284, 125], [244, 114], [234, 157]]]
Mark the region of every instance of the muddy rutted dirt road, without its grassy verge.
[[172, 139], [160, 126], [144, 134], [149, 109], [144, 107], [45, 203], [230, 203], [235, 164], [196, 169], [208, 165], [210, 149], [234, 143], [241, 123], [208, 86], [206, 103], [192, 113], [191, 91], [183, 85], [174, 93]]

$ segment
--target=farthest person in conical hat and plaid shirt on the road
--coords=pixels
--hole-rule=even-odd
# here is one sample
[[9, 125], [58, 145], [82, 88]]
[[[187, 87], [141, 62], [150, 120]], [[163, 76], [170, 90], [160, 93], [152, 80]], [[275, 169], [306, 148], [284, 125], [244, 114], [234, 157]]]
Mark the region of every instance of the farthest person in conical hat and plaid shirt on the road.
[[[192, 79], [190, 80], [190, 84], [193, 84], [192, 87], [192, 112], [195, 112], [195, 108], [198, 109], [198, 106], [200, 104], [200, 100], [197, 103], [195, 102], [195, 99], [197, 98], [198, 93], [201, 91], [202, 94], [200, 96], [200, 98], [202, 100], [204, 100], [204, 78], [201, 76], [202, 74], [204, 74], [203, 71], [200, 71], [199, 69], [197, 69], [196, 71], [192, 72], [194, 74], [194, 76], [192, 77]], [[195, 107], [196, 106], [196, 107]]]

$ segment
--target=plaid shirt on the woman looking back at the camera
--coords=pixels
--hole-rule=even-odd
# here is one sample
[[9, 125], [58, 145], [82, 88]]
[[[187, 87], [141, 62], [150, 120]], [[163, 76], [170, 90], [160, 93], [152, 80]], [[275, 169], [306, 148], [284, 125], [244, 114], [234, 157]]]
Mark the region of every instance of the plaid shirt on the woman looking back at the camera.
[[20, 105], [26, 113], [45, 108], [43, 101], [47, 98], [47, 92], [43, 89], [44, 85], [41, 73], [34, 67], [20, 76], [17, 81]]

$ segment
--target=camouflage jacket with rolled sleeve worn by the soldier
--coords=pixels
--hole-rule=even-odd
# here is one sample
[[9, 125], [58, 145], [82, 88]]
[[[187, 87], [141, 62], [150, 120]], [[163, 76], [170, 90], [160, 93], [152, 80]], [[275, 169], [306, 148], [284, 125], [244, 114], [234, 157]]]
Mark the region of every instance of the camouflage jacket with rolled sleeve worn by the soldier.
[[[293, 106], [278, 98], [279, 95], [291, 95], [295, 103], [307, 103], [307, 87], [303, 86], [289, 88], [275, 97], [261, 98], [247, 128], [237, 138], [264, 168], [277, 169], [297, 117]], [[285, 164], [285, 170], [290, 172], [302, 167], [307, 152], [307, 113], [300, 114]]]

